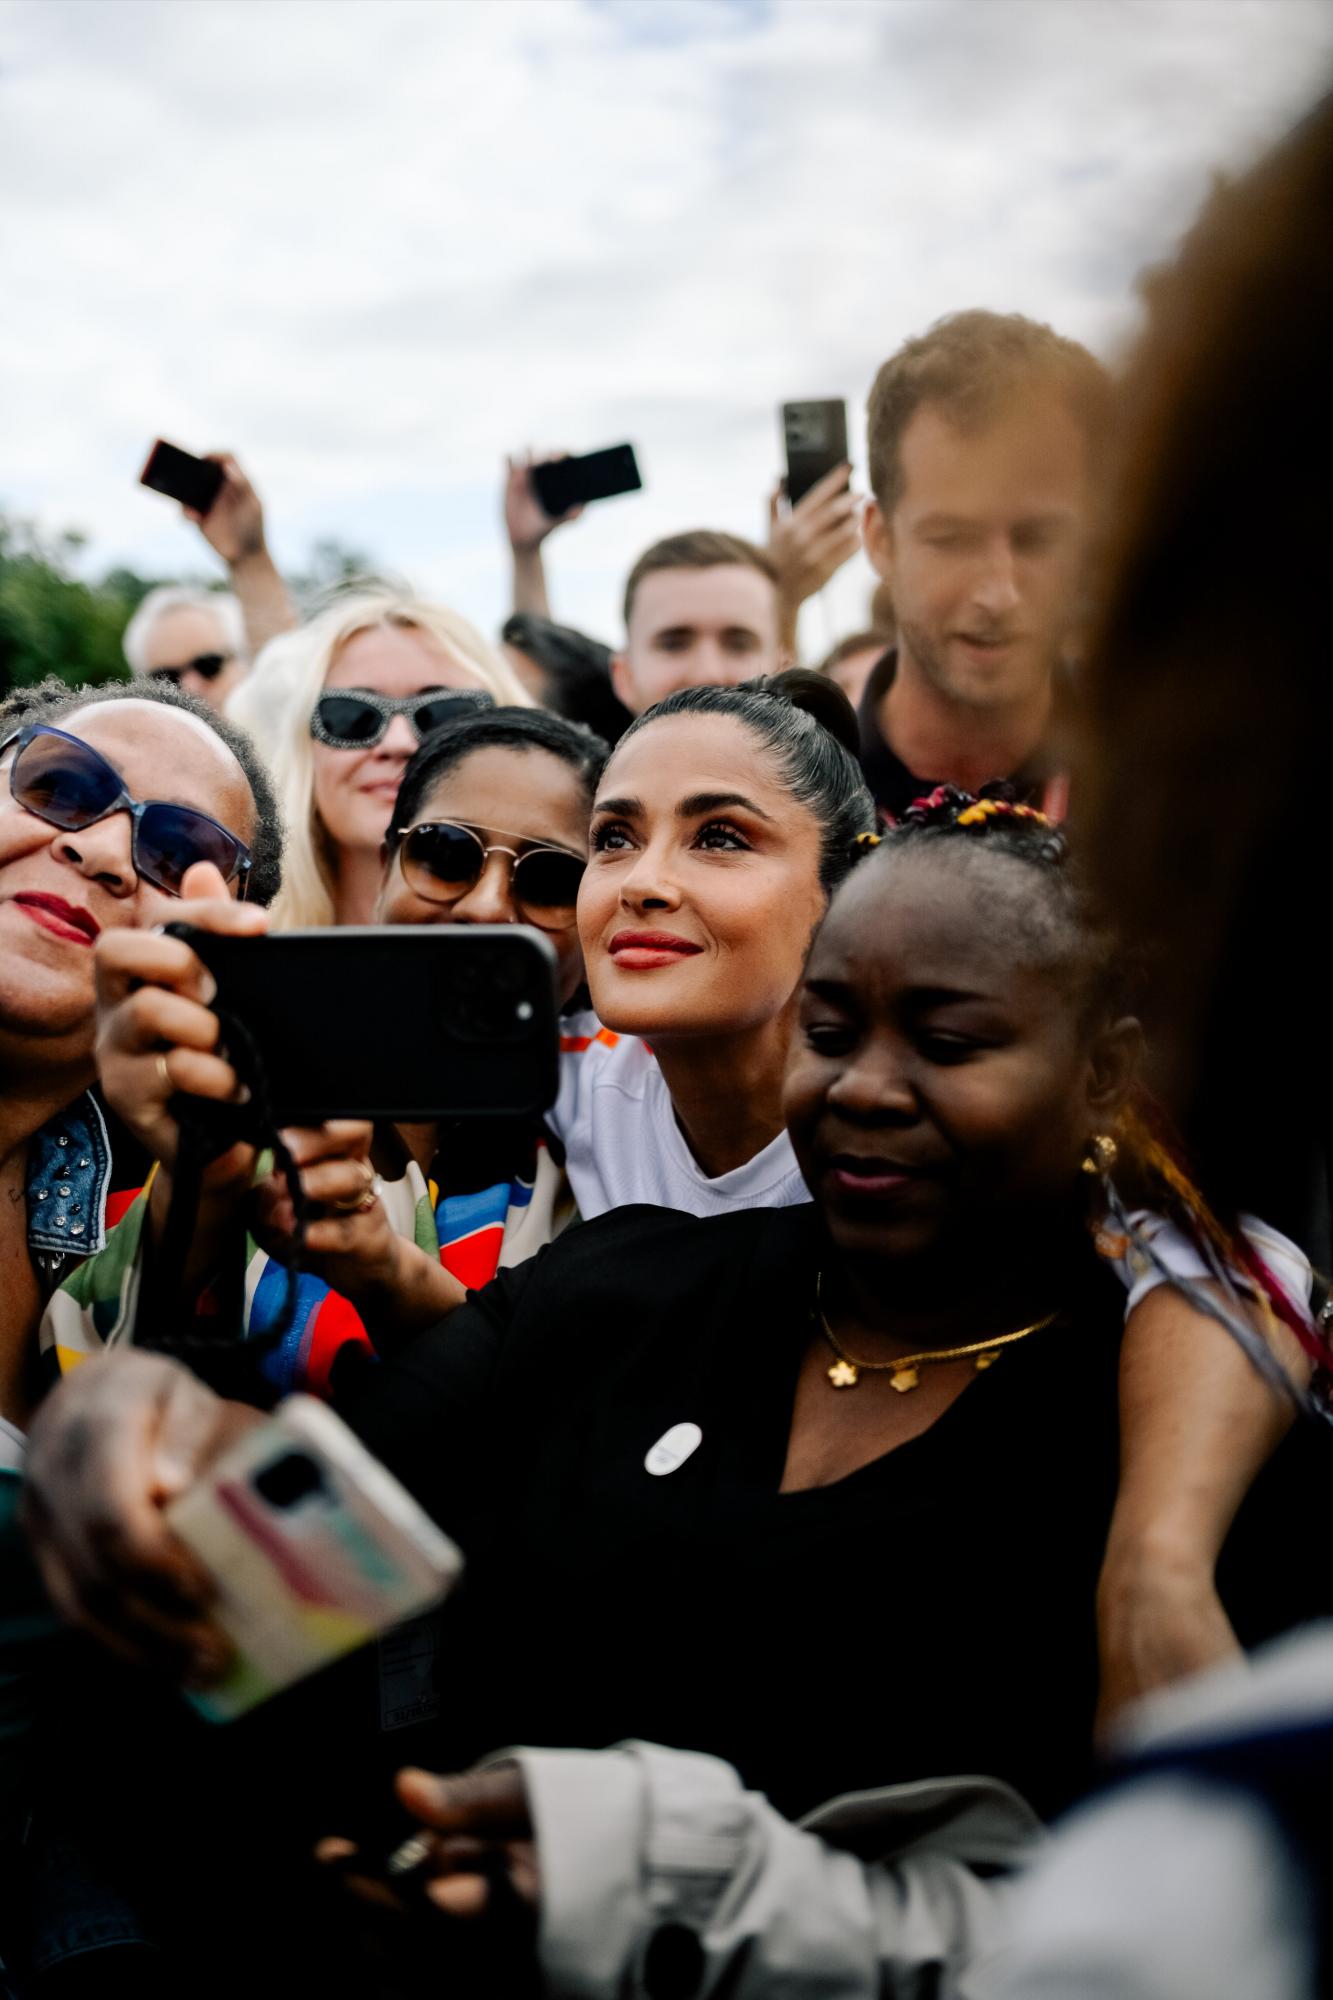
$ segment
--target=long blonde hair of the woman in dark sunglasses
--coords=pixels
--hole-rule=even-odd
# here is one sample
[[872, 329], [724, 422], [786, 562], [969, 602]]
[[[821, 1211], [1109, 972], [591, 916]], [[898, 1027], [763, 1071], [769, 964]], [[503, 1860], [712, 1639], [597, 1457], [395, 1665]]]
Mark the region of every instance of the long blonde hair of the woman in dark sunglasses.
[[286, 850], [282, 890], [272, 906], [274, 930], [334, 922], [334, 856], [314, 806], [310, 714], [338, 652], [358, 632], [378, 626], [422, 632], [498, 704], [532, 706], [508, 660], [476, 626], [442, 604], [422, 604], [396, 592], [340, 596], [308, 624], [270, 640], [226, 702], [226, 714], [254, 738], [282, 802]]

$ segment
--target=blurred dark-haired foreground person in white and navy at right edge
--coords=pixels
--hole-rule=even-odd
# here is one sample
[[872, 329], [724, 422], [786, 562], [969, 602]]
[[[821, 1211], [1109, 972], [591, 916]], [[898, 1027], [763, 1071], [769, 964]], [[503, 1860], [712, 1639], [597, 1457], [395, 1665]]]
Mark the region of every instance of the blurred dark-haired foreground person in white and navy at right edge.
[[[1293, 1028], [1291, 1004], [1329, 894], [1327, 634], [1303, 580], [1327, 568], [1333, 518], [1311, 422], [1333, 344], [1333, 272], [1311, 244], [1331, 208], [1325, 96], [1145, 288], [1081, 764], [1103, 892], [1155, 954], [1163, 1084], [1201, 1170], [1219, 1204], [1261, 1182], [1293, 1228], [1319, 1228], [1321, 1210], [1327, 1224], [1329, 1178], [1327, 1042]], [[1243, 1092], [1239, 1050], [1257, 1062]], [[1199, 1340], [1199, 1360], [1227, 1360], [1213, 1328]], [[1263, 1408], [1233, 1362], [1241, 1408], [1247, 1392]], [[1277, 1406], [1269, 1420], [1285, 1426]], [[1321, 1524], [1293, 1522], [1293, 1538]], [[1119, 1786], [1067, 1824], [987, 1992], [1327, 1994], [1333, 1626], [1161, 1696], [1123, 1750]]]

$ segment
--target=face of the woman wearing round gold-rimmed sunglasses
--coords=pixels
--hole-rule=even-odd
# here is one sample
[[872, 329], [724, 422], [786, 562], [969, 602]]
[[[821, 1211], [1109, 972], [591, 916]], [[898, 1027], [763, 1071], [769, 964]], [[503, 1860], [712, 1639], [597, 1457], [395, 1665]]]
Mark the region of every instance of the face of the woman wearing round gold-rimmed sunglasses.
[[[470, 828], [484, 848], [504, 846], [518, 856], [546, 846], [576, 856], [588, 852], [588, 798], [582, 782], [572, 764], [540, 748], [516, 750], [508, 744], [490, 744], [474, 750], [432, 786], [412, 826], [440, 820]], [[440, 902], [416, 894], [406, 880], [402, 842], [398, 842], [384, 866], [376, 922], [522, 924], [526, 918], [514, 902], [512, 870], [514, 860], [508, 854], [488, 854], [476, 882], [452, 902]], [[582, 980], [578, 930], [574, 924], [562, 928], [542, 924], [540, 930], [556, 954], [556, 990], [564, 1004]]]

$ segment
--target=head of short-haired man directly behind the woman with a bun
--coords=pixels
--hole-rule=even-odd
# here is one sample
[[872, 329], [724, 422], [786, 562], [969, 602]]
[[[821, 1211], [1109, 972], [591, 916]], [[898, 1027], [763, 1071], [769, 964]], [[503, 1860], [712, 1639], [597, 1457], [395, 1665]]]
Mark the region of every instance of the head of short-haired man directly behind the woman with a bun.
[[785, 666], [779, 574], [739, 534], [693, 528], [644, 550], [624, 584], [610, 682], [632, 714], [677, 688], [735, 686]]

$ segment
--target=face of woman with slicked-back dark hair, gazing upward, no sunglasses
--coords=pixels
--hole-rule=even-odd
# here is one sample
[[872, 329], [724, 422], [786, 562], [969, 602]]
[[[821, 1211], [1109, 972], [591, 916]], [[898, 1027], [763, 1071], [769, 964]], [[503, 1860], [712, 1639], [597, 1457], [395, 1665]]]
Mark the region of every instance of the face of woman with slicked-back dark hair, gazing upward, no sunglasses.
[[825, 910], [821, 834], [735, 716], [664, 716], [616, 750], [578, 932], [604, 1026], [745, 1034], [789, 1006]]

